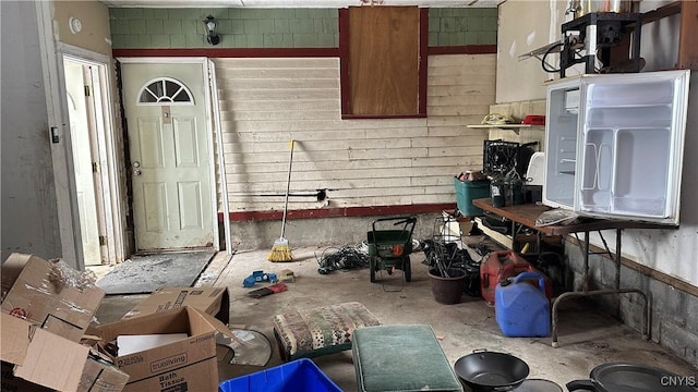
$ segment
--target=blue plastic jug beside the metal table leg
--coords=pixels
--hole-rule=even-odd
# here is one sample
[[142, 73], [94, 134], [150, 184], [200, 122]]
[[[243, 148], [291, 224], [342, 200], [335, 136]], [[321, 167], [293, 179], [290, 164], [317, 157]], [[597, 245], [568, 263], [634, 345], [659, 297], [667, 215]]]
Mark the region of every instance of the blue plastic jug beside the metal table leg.
[[[526, 281], [538, 279], [538, 286]], [[504, 283], [504, 284], [502, 284]], [[495, 287], [494, 314], [506, 336], [547, 336], [550, 334], [550, 301], [545, 296], [545, 279], [538, 272], [519, 273], [507, 284]]]

